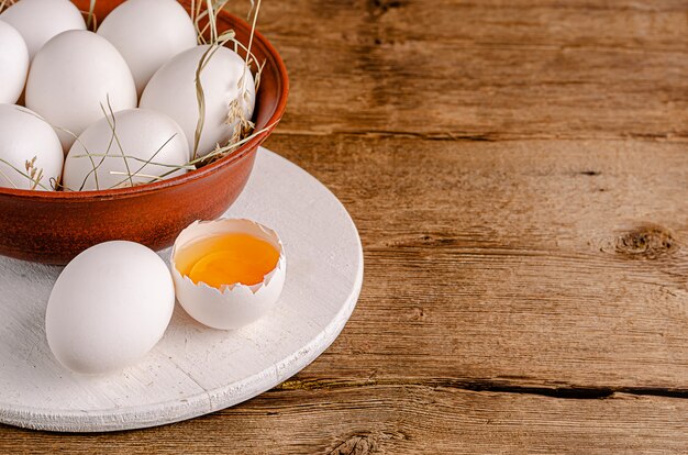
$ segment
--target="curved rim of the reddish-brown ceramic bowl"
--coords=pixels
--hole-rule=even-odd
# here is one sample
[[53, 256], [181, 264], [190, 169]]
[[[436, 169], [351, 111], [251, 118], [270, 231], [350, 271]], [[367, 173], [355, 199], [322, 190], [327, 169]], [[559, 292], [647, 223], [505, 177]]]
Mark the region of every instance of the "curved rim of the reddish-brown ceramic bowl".
[[[224, 20], [236, 24], [235, 27], [242, 27], [244, 30], [251, 30], [251, 25], [246, 21], [229, 11], [220, 11], [218, 13], [219, 20]], [[129, 197], [136, 197], [145, 193], [157, 192], [166, 188], [178, 187], [198, 179], [201, 179], [210, 174], [214, 174], [225, 166], [230, 166], [233, 163], [246, 157], [249, 153], [256, 149], [273, 132], [275, 126], [281, 120], [287, 107], [287, 98], [289, 96], [289, 76], [287, 74], [287, 67], [285, 66], [281, 56], [273, 44], [257, 30], [254, 34], [254, 43], [259, 43], [267, 52], [269, 58], [275, 63], [278, 80], [281, 85], [278, 90], [278, 100], [275, 112], [270, 115], [266, 126], [262, 133], [256, 134], [251, 141], [242, 144], [234, 153], [223, 158], [220, 158], [213, 163], [210, 163], [200, 169], [196, 169], [184, 175], [155, 181], [152, 184], [145, 184], [135, 187], [115, 188], [106, 190], [92, 190], [92, 191], [41, 191], [41, 190], [26, 190], [16, 188], [0, 187], [0, 197], [13, 197], [16, 199], [29, 200], [65, 200], [71, 202], [89, 202], [103, 199], [124, 199]]]

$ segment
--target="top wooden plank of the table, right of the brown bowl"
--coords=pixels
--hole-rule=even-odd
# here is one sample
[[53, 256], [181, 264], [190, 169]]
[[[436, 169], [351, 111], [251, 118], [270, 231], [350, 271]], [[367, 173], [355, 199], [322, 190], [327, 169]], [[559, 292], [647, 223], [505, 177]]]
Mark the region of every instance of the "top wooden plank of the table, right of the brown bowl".
[[280, 132], [688, 135], [685, 0], [299, 0], [260, 27], [290, 71]]

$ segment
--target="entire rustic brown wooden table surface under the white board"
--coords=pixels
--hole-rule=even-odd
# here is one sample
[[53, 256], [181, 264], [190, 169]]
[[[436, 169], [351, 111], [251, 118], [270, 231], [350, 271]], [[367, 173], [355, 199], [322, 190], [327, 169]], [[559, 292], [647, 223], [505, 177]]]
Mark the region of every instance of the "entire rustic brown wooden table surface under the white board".
[[688, 451], [688, 2], [290, 0], [267, 144], [366, 252], [335, 344], [164, 428], [0, 453]]

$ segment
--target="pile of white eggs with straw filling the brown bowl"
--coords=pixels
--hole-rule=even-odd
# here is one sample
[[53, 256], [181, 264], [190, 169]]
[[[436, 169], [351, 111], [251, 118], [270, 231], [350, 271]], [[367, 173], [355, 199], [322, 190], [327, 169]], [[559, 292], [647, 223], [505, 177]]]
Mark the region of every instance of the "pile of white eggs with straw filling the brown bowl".
[[176, 0], [126, 0], [96, 32], [69, 0], [16, 1], [0, 14], [0, 187], [103, 190], [192, 170], [236, 138], [236, 107], [248, 120], [255, 107], [246, 62], [228, 47], [206, 62], [208, 49]]

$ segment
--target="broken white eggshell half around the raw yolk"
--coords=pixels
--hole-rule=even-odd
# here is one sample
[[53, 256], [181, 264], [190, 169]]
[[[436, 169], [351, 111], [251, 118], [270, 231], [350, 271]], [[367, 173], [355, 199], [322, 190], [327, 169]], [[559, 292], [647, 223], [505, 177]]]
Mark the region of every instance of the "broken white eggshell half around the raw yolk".
[[[277, 267], [254, 286], [242, 284], [215, 289], [203, 282], [195, 284], [182, 276], [175, 264], [177, 252], [209, 237], [229, 233], [245, 233], [262, 238], [279, 251]], [[221, 219], [197, 221], [179, 234], [171, 252], [171, 271], [177, 300], [193, 319], [213, 329], [240, 329], [260, 319], [279, 299], [285, 286], [287, 259], [277, 233], [251, 220]]]

